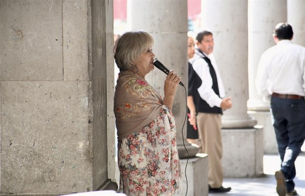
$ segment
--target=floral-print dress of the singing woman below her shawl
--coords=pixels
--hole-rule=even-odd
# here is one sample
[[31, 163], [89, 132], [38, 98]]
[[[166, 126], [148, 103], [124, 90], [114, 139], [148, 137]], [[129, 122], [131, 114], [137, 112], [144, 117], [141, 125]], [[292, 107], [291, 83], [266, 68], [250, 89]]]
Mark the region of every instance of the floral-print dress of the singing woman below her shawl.
[[173, 196], [180, 162], [174, 117], [166, 106], [151, 123], [118, 141], [120, 187], [128, 196]]

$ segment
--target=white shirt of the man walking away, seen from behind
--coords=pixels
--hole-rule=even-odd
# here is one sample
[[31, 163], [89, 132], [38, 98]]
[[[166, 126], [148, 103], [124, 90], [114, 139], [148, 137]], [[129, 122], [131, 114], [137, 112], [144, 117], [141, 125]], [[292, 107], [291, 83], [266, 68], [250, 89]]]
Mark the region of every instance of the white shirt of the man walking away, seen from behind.
[[266, 50], [259, 61], [256, 88], [259, 95], [305, 95], [305, 47], [281, 40]]

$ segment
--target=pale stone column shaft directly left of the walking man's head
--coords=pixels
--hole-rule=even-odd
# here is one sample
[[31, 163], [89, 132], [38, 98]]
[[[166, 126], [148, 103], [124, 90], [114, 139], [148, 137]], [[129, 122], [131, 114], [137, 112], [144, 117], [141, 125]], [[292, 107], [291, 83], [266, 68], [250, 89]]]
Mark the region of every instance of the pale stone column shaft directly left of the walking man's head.
[[263, 100], [256, 91], [255, 77], [260, 56], [275, 45], [272, 34], [275, 25], [287, 20], [286, 0], [248, 1], [249, 29], [249, 100], [248, 109], [269, 111], [269, 100]]

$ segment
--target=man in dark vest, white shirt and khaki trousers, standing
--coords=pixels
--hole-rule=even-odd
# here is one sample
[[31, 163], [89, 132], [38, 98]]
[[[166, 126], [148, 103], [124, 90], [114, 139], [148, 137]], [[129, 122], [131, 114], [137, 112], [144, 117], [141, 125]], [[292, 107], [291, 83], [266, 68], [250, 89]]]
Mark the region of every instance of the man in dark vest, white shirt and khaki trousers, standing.
[[[224, 188], [223, 183], [223, 145], [222, 145], [222, 114], [223, 109], [232, 106], [230, 98], [225, 97], [222, 78], [213, 55], [213, 34], [209, 31], [199, 32], [196, 37], [197, 49], [189, 62], [192, 64], [189, 72], [188, 105], [190, 107], [190, 122], [196, 118], [199, 138], [201, 140], [200, 152], [209, 156], [209, 192], [225, 193], [231, 188]], [[193, 108], [193, 109], [192, 109]], [[195, 115], [197, 113], [197, 117]]]

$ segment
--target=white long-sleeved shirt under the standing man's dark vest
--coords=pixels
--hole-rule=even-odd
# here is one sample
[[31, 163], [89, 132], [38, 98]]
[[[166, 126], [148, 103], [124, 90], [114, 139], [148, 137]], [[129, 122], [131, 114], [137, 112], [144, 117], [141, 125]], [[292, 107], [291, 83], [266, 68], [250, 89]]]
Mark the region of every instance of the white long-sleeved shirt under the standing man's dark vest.
[[[217, 76], [217, 82], [218, 82], [218, 89], [220, 97], [225, 97], [225, 88], [223, 84], [223, 80], [220, 76], [220, 73], [218, 71], [218, 66], [214, 57], [214, 54], [205, 54], [206, 57], [208, 57], [211, 61], [212, 66], [215, 69], [216, 76]], [[222, 103], [222, 98], [220, 98], [212, 89], [213, 80], [212, 76], [210, 74], [210, 68], [208, 63], [202, 59], [203, 55], [200, 54], [197, 50], [195, 52], [195, 55], [192, 59], [190, 59], [190, 63], [193, 66], [194, 71], [198, 74], [198, 76], [202, 80], [201, 86], [198, 88], [199, 95], [201, 99], [205, 100], [211, 108], [214, 106], [217, 106], [220, 108], [220, 105]]]

